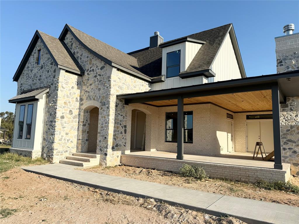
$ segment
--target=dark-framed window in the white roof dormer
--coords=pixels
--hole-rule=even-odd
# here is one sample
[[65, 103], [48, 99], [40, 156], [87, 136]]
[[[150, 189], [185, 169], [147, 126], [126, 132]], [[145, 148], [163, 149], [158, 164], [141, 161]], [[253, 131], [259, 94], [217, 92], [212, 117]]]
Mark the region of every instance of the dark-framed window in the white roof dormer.
[[181, 50], [167, 53], [166, 61], [166, 78], [179, 76]]

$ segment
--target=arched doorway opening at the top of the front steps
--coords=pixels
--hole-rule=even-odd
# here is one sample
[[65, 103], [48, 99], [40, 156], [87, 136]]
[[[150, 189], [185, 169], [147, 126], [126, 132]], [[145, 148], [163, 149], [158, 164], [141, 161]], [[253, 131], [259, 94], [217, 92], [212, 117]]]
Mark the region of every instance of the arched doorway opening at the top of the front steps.
[[96, 152], [97, 151], [98, 124], [99, 124], [99, 108], [94, 107], [89, 111], [87, 152]]

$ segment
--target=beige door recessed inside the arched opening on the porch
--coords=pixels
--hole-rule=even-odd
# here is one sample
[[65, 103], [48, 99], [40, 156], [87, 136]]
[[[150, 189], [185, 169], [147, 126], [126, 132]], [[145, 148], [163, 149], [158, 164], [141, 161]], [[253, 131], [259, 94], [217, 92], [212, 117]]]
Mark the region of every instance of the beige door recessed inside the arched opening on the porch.
[[136, 111], [135, 149], [144, 150], [146, 114]]

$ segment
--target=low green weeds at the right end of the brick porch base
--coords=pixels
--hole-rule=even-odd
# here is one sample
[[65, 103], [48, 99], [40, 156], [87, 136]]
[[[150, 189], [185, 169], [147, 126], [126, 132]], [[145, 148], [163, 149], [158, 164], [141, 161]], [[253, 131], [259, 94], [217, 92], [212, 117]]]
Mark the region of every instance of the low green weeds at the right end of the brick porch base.
[[299, 186], [292, 184], [290, 181], [274, 181], [268, 182], [265, 180], [258, 180], [255, 185], [266, 190], [289, 191], [294, 194], [299, 194]]

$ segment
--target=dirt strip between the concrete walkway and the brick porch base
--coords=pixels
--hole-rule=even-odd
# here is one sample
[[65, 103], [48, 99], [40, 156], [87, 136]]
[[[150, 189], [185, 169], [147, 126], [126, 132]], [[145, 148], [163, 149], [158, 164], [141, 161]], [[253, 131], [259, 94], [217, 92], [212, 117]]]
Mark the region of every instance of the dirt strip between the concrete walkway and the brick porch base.
[[[250, 183], [220, 179], [208, 179], [208, 181], [201, 182], [181, 177], [179, 174], [174, 174], [172, 172], [135, 168], [130, 166], [115, 166], [106, 168], [98, 166], [96, 168], [86, 169], [85, 171], [299, 207], [299, 195], [297, 194], [276, 190], [264, 190]], [[292, 177], [291, 182], [299, 186], [299, 177]]]

